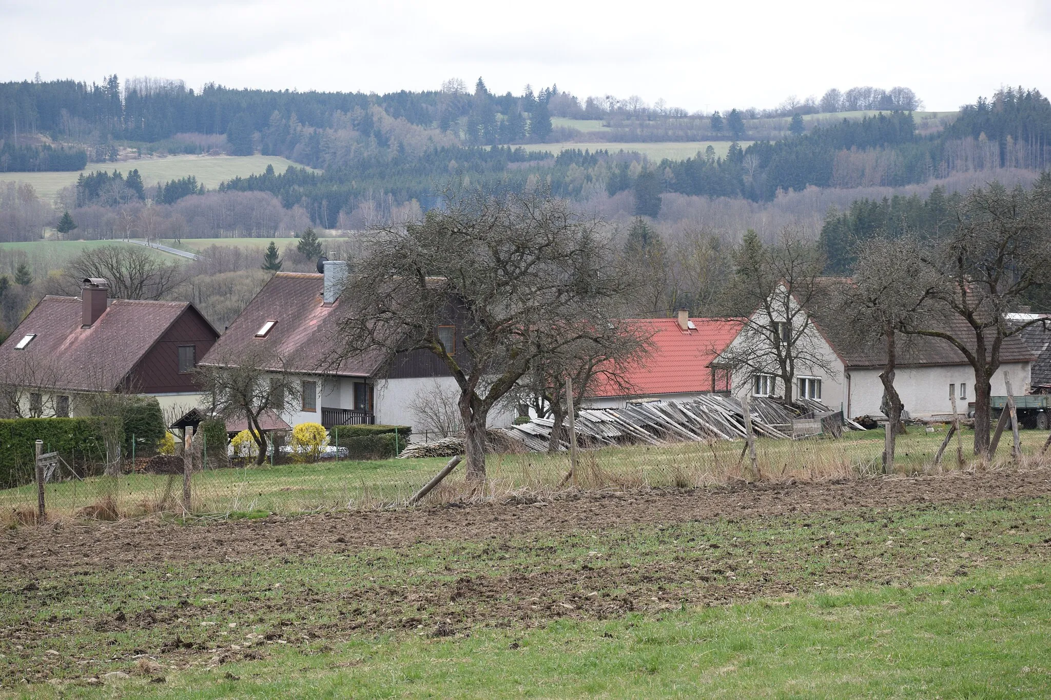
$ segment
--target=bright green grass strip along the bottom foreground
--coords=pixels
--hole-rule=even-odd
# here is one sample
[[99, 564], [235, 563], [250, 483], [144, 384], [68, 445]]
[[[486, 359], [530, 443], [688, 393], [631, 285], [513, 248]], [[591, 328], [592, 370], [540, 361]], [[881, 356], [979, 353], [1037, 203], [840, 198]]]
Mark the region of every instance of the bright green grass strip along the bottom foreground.
[[34, 685], [22, 696], [1045, 697], [1049, 578], [1051, 567], [1028, 566], [531, 630], [275, 645], [263, 660], [147, 671], [102, 687]]

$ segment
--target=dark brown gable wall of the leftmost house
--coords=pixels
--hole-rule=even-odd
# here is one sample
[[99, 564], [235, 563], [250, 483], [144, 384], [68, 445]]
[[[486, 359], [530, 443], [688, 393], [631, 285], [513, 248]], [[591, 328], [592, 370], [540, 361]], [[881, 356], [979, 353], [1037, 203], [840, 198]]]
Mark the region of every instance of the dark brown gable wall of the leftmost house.
[[214, 328], [192, 306], [187, 305], [179, 318], [139, 361], [131, 372], [132, 389], [145, 394], [197, 391], [192, 374], [180, 374], [179, 347], [193, 345], [197, 361], [215, 344]]

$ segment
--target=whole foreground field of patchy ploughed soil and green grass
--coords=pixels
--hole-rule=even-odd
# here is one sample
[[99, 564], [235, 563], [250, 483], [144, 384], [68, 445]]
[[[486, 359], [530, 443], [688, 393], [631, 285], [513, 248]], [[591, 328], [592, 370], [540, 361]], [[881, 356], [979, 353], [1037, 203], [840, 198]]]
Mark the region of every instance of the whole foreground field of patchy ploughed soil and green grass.
[[558, 503], [407, 513], [397, 544], [386, 513], [11, 532], [0, 693], [1046, 697], [1047, 495], [805, 501], [602, 527]]

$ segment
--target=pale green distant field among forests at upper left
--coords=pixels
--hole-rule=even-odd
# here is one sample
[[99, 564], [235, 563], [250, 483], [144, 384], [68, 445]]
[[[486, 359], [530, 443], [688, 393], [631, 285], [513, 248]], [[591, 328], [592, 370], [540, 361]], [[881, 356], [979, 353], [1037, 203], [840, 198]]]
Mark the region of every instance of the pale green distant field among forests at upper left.
[[288, 166], [302, 167], [276, 155], [169, 155], [121, 163], [89, 163], [87, 168], [78, 172], [6, 172], [0, 174], [0, 182], [29, 183], [37, 189], [38, 195], [51, 199], [60, 189], [75, 184], [81, 172], [119, 170], [127, 175], [129, 170], [138, 168], [147, 186], [193, 175], [205, 187], [215, 188], [224, 179], [261, 173], [271, 164], [277, 172], [283, 172]]

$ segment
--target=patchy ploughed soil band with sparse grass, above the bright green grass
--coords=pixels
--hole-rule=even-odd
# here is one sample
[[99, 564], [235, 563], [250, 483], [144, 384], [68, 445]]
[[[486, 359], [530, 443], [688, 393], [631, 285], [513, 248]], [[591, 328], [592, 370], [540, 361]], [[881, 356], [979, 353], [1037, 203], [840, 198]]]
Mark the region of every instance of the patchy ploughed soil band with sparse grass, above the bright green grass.
[[[480, 514], [466, 509], [465, 522]], [[22, 678], [34, 683], [71, 681], [131, 672], [137, 658], [146, 656], [156, 658], [170, 674], [172, 666], [192, 670], [234, 663], [260, 652], [285, 658], [286, 646], [309, 651], [328, 645], [347, 655], [363, 645], [371, 649], [376, 639], [388, 644], [388, 652], [375, 657], [376, 663], [401, 654], [403, 643], [410, 650], [404, 659], [409, 662], [417, 653], [411, 652], [417, 642], [406, 640], [436, 633], [469, 634], [471, 640], [463, 643], [497, 645], [509, 635], [541, 634], [536, 638], [539, 650], [547, 638], [531, 630], [547, 629], [552, 620], [569, 625], [556, 625], [555, 631], [601, 631], [605, 623], [625, 625], [631, 615], [642, 615], [632, 618], [641, 623], [674, 611], [696, 612], [706, 606], [743, 604], [757, 598], [799, 597], [809, 600], [805, 610], [817, 606], [828, 611], [821, 613], [824, 617], [850, 621], [849, 615], [836, 611], [852, 610], [868, 600], [866, 596], [907, 596], [874, 588], [879, 586], [897, 590], [948, 585], [973, 576], [988, 580], [997, 572], [1025, 565], [1036, 566], [1033, 571], [1040, 575], [1047, 573], [1043, 567], [1051, 551], [1045, 542], [1049, 517], [1048, 499], [996, 501], [795, 517], [718, 518], [481, 542], [421, 542], [314, 556], [297, 554], [303, 543], [281, 534], [284, 530], [265, 530], [260, 536], [277, 533], [270, 535], [275, 536], [272, 557], [144, 564], [102, 572], [41, 572], [29, 590], [23, 590], [24, 579], [0, 580], [0, 682], [11, 685]], [[217, 531], [217, 537], [221, 536]], [[333, 542], [337, 537], [333, 526]], [[862, 592], [856, 598], [844, 597], [852, 589]], [[853, 602], [841, 606], [837, 601]], [[701, 624], [709, 619], [706, 615], [724, 620], [727, 629], [737, 619], [730, 613], [710, 611], [697, 619], [682, 619]], [[1040, 615], [1040, 619], [1033, 618], [1032, 624], [1038, 627], [1032, 632], [1044, 634], [1048, 616], [1046, 612]], [[1012, 627], [1015, 622], [1004, 624], [1008, 623], [996, 628], [996, 634], [1003, 633], [1005, 639], [1025, 632], [1021, 622], [1017, 630]], [[881, 630], [886, 627], [881, 625]], [[820, 632], [800, 628], [804, 629], [806, 634]], [[779, 644], [790, 641], [787, 634]], [[556, 635], [557, 643], [563, 643], [558, 639]], [[571, 659], [584, 663], [573, 656], [576, 650], [566, 652]], [[881, 653], [897, 653], [897, 646]], [[672, 652], [657, 644], [650, 654], [663, 669], [660, 659]], [[644, 656], [640, 652], [637, 658]], [[790, 658], [785, 657], [786, 663]], [[281, 666], [286, 661], [273, 663]], [[536, 657], [536, 663], [551, 671], [545, 664], [556, 660]], [[669, 663], [668, 673], [679, 669], [677, 664]], [[745, 667], [744, 661], [736, 665]], [[254, 667], [254, 663], [239, 666], [235, 675], [264, 673]], [[680, 672], [686, 673], [682, 669], [676, 673]], [[574, 673], [582, 674], [584, 667]], [[596, 677], [611, 673], [595, 669]], [[626, 667], [618, 673], [623, 682], [632, 676]], [[379, 671], [376, 674], [376, 678], [385, 677]], [[614, 685], [620, 687], [619, 683]], [[662, 688], [654, 686], [655, 692], [666, 691]], [[512, 691], [509, 686], [498, 692]], [[804, 686], [800, 693], [810, 695], [811, 691]]]

